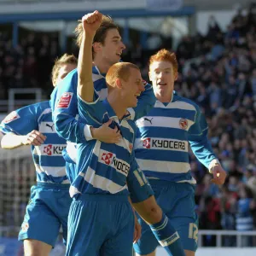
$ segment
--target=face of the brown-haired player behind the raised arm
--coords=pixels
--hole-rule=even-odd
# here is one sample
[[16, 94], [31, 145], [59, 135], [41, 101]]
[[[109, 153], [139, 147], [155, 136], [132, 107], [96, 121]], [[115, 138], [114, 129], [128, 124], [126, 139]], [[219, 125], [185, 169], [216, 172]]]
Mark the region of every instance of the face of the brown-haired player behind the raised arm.
[[107, 61], [109, 65], [117, 63], [121, 59], [125, 44], [122, 42], [119, 31], [117, 29], [109, 29], [102, 45], [102, 59]]

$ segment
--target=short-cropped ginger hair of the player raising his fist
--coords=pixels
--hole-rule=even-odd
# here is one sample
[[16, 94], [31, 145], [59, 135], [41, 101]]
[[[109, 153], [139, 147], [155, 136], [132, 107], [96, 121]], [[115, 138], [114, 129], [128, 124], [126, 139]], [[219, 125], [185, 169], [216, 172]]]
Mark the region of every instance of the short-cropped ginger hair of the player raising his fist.
[[130, 62], [118, 62], [113, 64], [106, 74], [106, 82], [108, 84], [108, 90], [112, 90], [115, 87], [116, 79], [123, 79], [127, 81], [131, 75], [131, 68], [140, 70], [137, 65]]

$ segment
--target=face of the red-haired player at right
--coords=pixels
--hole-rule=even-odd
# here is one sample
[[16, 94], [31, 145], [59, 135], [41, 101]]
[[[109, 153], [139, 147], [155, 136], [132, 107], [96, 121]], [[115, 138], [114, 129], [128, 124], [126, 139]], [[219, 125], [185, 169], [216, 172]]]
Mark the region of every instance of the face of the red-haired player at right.
[[148, 74], [149, 79], [153, 84], [155, 95], [172, 95], [174, 81], [177, 79], [177, 73], [174, 73], [171, 62], [154, 61], [149, 67]]

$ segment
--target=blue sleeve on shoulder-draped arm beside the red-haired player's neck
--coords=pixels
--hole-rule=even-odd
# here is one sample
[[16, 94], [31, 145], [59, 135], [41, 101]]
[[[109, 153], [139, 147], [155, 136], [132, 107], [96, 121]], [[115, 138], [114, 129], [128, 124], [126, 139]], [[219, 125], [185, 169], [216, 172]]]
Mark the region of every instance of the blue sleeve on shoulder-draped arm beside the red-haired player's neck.
[[145, 85], [145, 90], [143, 91], [141, 96], [138, 97], [137, 107], [128, 109], [131, 113], [131, 119], [134, 119], [136, 121], [137, 119], [140, 119], [143, 116], [147, 115], [151, 108], [154, 107], [154, 103], [155, 96], [153, 87], [151, 84], [147, 83]]

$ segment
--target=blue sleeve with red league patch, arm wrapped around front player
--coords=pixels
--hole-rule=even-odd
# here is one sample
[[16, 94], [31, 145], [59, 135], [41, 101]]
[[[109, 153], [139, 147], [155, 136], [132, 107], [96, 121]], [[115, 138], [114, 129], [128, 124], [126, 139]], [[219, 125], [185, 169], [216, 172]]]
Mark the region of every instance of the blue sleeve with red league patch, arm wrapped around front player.
[[67, 141], [86, 143], [92, 137], [88, 126], [77, 118], [77, 84], [78, 73], [75, 69], [52, 92], [51, 108], [57, 133]]

